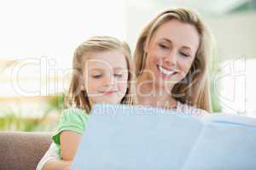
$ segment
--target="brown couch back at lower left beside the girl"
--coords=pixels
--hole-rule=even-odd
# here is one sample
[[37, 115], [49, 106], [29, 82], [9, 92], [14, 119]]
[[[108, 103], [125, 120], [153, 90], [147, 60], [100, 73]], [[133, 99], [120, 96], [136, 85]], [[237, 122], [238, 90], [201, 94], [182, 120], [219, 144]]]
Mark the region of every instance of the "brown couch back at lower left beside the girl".
[[0, 132], [0, 169], [34, 170], [49, 148], [51, 133]]

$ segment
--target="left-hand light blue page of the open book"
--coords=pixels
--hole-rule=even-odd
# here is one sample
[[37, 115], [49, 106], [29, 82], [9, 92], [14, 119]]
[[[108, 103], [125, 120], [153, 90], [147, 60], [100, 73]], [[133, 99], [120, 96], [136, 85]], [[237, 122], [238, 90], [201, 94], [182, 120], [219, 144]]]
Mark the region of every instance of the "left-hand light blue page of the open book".
[[202, 127], [174, 111], [96, 105], [72, 169], [181, 169]]

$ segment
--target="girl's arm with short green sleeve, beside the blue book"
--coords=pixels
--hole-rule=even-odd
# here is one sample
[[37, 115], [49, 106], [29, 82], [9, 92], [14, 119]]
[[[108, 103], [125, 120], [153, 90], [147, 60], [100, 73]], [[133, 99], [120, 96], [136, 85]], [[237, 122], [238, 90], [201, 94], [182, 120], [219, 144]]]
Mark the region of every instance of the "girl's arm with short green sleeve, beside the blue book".
[[[79, 141], [82, 138], [88, 116], [84, 111], [79, 109], [67, 109], [61, 113], [61, 119], [56, 133], [52, 136], [55, 143], [53, 144], [55, 146], [54, 153], [57, 156], [46, 156], [47, 159], [44, 159], [44, 161], [41, 160], [42, 163], [38, 166], [41, 168], [37, 170], [70, 169], [71, 167], [71, 162], [79, 146]], [[57, 145], [60, 147], [56, 147]], [[61, 157], [59, 156], [60, 151]]]

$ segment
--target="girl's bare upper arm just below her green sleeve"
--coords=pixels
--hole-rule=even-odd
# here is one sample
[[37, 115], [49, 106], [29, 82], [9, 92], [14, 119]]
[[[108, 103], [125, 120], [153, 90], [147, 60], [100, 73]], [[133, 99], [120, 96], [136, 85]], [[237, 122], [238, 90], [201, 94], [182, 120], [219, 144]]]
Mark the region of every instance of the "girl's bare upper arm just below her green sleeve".
[[75, 156], [81, 139], [82, 135], [80, 133], [75, 133], [73, 131], [61, 132], [61, 160], [73, 161], [73, 157]]

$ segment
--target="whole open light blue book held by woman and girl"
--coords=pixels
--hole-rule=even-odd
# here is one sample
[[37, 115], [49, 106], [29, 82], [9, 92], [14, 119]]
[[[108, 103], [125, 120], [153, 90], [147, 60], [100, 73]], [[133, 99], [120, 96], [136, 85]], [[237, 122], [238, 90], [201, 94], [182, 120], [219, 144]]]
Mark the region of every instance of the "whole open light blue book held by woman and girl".
[[256, 120], [95, 105], [72, 169], [256, 169]]

